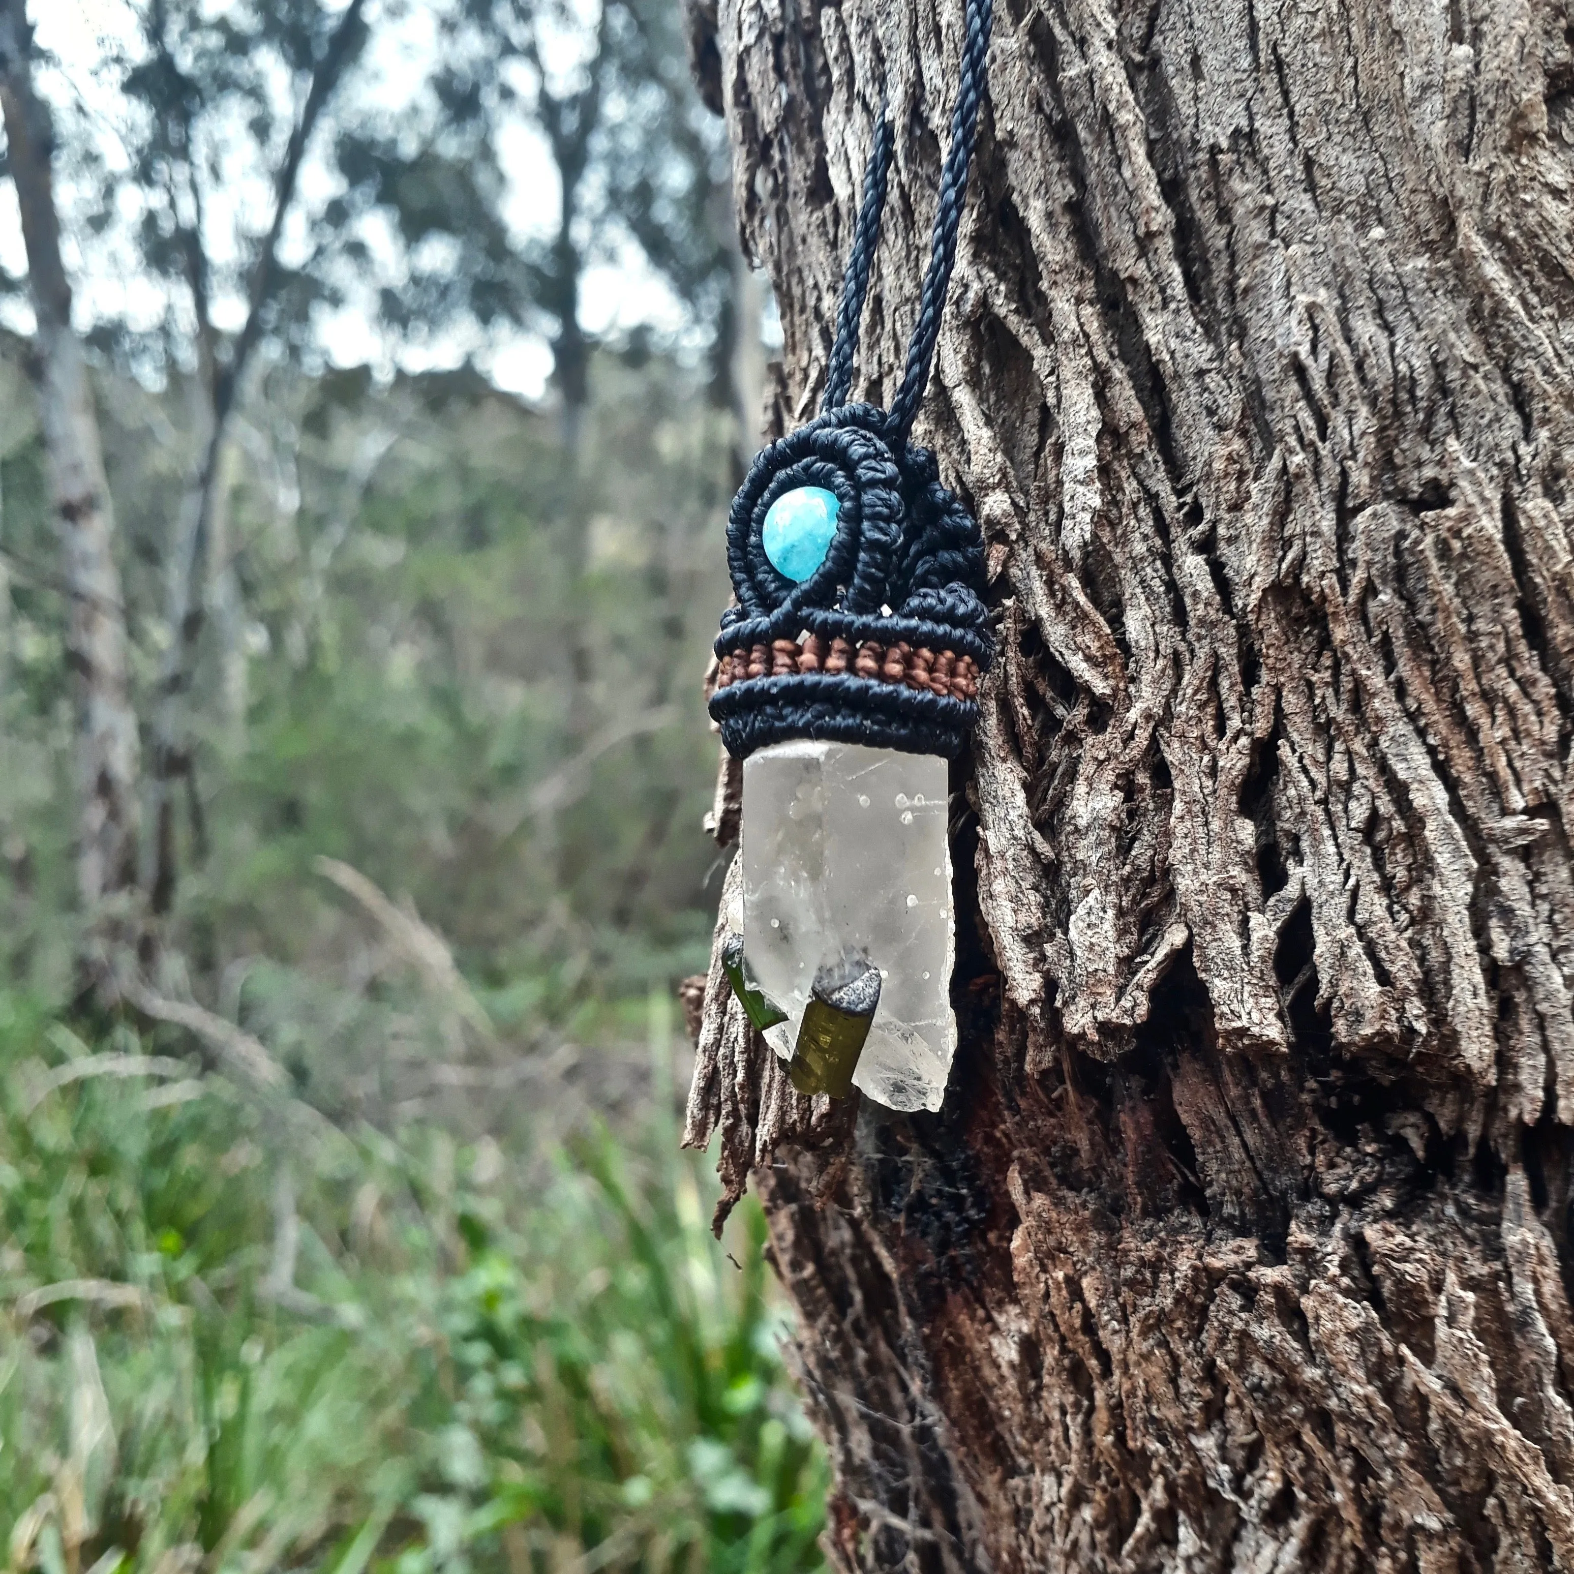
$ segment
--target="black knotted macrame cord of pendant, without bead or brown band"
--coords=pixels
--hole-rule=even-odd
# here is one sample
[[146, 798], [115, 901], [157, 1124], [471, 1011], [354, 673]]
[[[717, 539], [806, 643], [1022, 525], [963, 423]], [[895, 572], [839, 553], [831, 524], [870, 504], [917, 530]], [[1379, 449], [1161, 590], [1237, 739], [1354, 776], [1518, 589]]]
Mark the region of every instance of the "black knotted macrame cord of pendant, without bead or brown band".
[[[716, 655], [796, 642], [809, 634], [829, 645], [880, 652], [944, 652], [985, 671], [993, 641], [979, 592], [984, 543], [973, 516], [940, 483], [935, 455], [908, 441], [940, 335], [940, 318], [957, 255], [973, 135], [984, 93], [992, 0], [966, 0], [966, 39], [951, 146], [918, 323], [891, 409], [848, 403], [853, 360], [892, 156], [892, 127], [881, 105], [864, 173], [853, 246], [842, 279], [836, 342], [820, 414], [756, 455], [727, 519], [727, 563], [737, 606], [721, 619]], [[836, 535], [820, 567], [793, 584], [765, 556], [765, 515], [784, 493], [823, 486], [839, 502]], [[855, 671], [732, 674], [710, 702], [727, 751], [738, 759], [785, 738], [834, 738], [959, 754], [977, 721], [965, 689], [888, 682]]]

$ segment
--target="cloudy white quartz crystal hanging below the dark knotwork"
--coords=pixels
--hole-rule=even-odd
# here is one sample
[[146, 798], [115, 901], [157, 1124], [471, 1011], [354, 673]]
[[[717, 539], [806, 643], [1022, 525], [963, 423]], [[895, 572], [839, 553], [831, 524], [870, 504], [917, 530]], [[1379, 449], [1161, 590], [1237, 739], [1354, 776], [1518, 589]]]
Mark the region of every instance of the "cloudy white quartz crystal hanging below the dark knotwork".
[[891, 1110], [938, 1110], [957, 1023], [946, 762], [858, 743], [793, 740], [743, 762], [743, 949], [787, 1020], [792, 1058], [820, 968], [880, 970], [853, 1084]]

